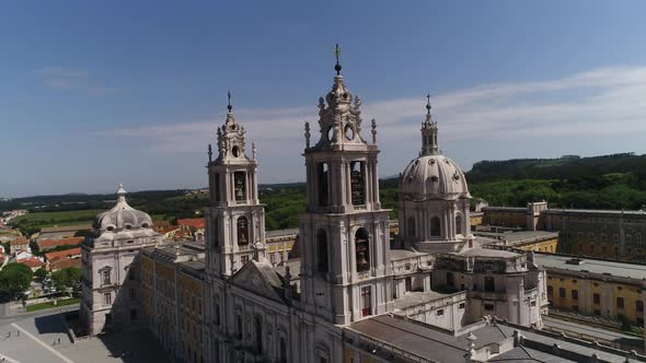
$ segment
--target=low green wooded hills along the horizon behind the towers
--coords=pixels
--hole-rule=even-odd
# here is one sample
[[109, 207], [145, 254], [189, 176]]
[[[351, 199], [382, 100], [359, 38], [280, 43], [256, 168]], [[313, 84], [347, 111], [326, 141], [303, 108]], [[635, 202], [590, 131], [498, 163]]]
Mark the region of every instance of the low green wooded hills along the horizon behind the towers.
[[[473, 165], [466, 179], [473, 197], [491, 206], [523, 207], [538, 200], [553, 208], [637, 210], [646, 206], [646, 155], [633, 153], [483, 161]], [[397, 177], [380, 180], [381, 202], [393, 210], [392, 218], [396, 218], [397, 183]], [[305, 208], [305, 185], [261, 185], [259, 198], [268, 230], [296, 227], [298, 213]], [[0, 201], [0, 211], [30, 210], [32, 215], [16, 219], [14, 226], [33, 233], [43, 226], [91, 222], [95, 211], [114, 202], [113, 194], [41, 196]], [[128, 202], [153, 219], [174, 220], [200, 215], [208, 195], [185, 189], [138, 191], [128, 194]], [[88, 212], [72, 212], [80, 210]]]

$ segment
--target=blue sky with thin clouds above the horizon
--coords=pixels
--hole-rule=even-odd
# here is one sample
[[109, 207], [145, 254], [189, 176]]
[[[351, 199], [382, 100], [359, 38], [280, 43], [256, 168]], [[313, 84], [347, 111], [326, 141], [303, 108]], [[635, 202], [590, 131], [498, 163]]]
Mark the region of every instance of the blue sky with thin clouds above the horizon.
[[0, 197], [194, 188], [227, 90], [259, 182], [304, 179], [334, 75], [374, 117], [382, 176], [419, 148], [481, 160], [645, 153], [643, 1], [2, 1]]

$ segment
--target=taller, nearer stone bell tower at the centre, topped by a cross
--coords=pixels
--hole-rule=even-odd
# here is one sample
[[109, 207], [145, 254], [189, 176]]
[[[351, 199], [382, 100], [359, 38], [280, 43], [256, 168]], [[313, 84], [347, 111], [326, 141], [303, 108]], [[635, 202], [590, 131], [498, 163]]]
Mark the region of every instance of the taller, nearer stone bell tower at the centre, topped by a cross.
[[335, 48], [332, 91], [319, 99], [320, 139], [305, 124], [307, 211], [299, 216], [301, 301], [337, 325], [392, 311], [389, 210], [381, 209], [377, 129], [361, 136], [361, 99], [346, 89]]

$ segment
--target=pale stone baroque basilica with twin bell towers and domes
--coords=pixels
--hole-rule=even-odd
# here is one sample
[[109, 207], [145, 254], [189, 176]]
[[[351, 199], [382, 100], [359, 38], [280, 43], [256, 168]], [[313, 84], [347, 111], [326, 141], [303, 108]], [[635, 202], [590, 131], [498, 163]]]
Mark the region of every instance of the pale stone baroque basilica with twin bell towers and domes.
[[558, 346], [562, 337], [534, 330], [547, 289], [532, 253], [471, 233], [468, 184], [439, 152], [430, 103], [419, 155], [401, 177], [391, 247], [377, 126], [362, 134], [361, 99], [335, 70], [315, 143], [305, 124], [298, 256], [267, 258], [256, 150], [229, 105], [215, 159], [209, 145], [204, 241], [163, 242], [123, 188], [97, 216], [82, 254], [88, 332], [147, 327], [186, 362], [593, 359], [601, 348]]

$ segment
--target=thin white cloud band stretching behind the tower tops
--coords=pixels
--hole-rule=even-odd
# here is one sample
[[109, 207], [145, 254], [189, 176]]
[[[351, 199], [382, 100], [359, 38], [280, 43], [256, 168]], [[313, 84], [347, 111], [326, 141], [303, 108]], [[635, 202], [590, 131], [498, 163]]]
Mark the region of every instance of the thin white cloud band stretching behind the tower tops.
[[[72, 79], [74, 74], [71, 74]], [[351, 79], [347, 85], [353, 89]], [[442, 140], [529, 138], [532, 134], [577, 136], [646, 131], [646, 67], [603, 68], [556, 80], [494, 83], [440, 93], [432, 98], [434, 118]], [[369, 102], [364, 99], [364, 137], [371, 118], [378, 121], [383, 147], [417, 141], [425, 97]], [[300, 154], [303, 122], [318, 137], [316, 107], [234, 110], [237, 120], [265, 155]], [[224, 115], [178, 122], [107, 131], [137, 138], [154, 152], [198, 152], [214, 142]], [[263, 151], [264, 150], [264, 151]]]

